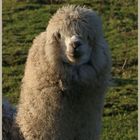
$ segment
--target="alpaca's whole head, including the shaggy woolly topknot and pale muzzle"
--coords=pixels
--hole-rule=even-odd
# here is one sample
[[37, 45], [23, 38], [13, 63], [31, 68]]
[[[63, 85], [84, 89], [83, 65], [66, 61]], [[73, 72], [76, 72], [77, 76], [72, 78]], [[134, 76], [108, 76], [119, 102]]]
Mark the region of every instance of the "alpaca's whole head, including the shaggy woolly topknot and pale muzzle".
[[102, 37], [101, 22], [90, 9], [66, 6], [59, 9], [50, 20], [47, 37], [48, 42], [54, 44], [52, 47], [59, 49], [56, 56], [59, 55], [63, 62], [85, 64], [89, 62], [92, 49]]

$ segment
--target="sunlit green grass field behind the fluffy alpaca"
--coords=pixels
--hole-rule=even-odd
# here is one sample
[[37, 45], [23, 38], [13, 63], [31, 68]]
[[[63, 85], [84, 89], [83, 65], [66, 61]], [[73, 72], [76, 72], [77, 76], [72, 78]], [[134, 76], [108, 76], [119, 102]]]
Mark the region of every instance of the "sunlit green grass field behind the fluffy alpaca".
[[[68, 2], [66, 2], [68, 3]], [[112, 84], [106, 96], [102, 140], [137, 140], [137, 1], [70, 0], [102, 17], [112, 52]], [[17, 104], [28, 49], [63, 4], [3, 1], [3, 96]]]

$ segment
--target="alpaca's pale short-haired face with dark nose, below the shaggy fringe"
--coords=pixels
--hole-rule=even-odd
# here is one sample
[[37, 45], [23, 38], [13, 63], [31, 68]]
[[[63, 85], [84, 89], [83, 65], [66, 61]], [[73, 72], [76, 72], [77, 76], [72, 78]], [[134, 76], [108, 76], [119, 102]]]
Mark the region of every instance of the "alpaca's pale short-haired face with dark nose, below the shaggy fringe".
[[62, 60], [72, 65], [85, 64], [90, 60], [92, 47], [88, 40], [80, 35], [63, 36], [57, 33], [60, 48], [62, 50]]

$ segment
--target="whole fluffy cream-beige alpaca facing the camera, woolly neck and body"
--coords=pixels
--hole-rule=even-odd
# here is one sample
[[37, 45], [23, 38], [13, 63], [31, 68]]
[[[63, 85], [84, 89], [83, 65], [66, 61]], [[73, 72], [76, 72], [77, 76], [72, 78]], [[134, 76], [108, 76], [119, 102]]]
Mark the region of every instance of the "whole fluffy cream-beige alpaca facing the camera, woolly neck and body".
[[68, 5], [29, 50], [15, 124], [25, 140], [99, 140], [111, 71], [101, 19]]

